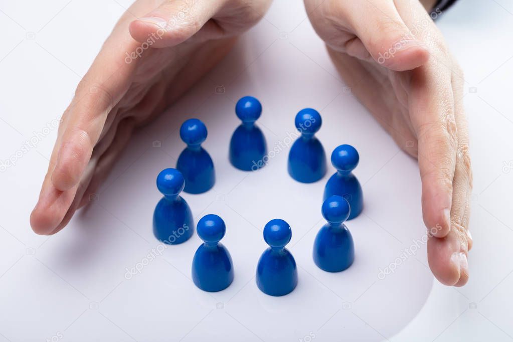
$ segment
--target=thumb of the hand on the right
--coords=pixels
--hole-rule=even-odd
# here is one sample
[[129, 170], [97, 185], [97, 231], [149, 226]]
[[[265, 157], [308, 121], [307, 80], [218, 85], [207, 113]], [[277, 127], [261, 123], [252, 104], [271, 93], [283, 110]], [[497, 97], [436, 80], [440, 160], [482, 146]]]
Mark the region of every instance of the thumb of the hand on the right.
[[429, 53], [424, 44], [405, 25], [394, 2], [368, 0], [340, 4], [342, 15], [378, 64], [404, 71], [428, 61]]

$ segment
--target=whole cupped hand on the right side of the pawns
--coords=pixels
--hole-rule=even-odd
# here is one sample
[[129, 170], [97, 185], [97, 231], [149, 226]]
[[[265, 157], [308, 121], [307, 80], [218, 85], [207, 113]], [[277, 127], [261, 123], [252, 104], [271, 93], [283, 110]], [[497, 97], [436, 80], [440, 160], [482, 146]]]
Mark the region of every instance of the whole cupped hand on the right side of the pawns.
[[418, 0], [305, 6], [352, 93], [419, 160], [431, 271], [445, 285], [465, 285], [472, 173], [464, 79], [440, 31]]

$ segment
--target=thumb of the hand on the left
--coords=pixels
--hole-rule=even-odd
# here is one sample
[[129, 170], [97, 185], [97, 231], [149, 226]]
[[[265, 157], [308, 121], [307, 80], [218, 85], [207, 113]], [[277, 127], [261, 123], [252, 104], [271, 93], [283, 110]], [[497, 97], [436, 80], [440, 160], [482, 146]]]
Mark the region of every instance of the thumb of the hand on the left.
[[[154, 48], [166, 48], [185, 42], [198, 33], [220, 9], [222, 1], [164, 1], [155, 10], [130, 23], [129, 31], [137, 42]], [[215, 24], [211, 23], [213, 28]]]

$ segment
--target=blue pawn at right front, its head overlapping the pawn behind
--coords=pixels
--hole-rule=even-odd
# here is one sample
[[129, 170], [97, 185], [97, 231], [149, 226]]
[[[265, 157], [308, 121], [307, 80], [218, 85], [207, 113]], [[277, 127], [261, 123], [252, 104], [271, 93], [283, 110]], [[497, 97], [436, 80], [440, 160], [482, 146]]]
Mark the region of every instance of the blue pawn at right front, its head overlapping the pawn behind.
[[340, 272], [354, 261], [354, 243], [351, 232], [344, 225], [351, 211], [344, 197], [331, 196], [322, 205], [322, 215], [327, 220], [313, 243], [313, 261], [320, 269]]

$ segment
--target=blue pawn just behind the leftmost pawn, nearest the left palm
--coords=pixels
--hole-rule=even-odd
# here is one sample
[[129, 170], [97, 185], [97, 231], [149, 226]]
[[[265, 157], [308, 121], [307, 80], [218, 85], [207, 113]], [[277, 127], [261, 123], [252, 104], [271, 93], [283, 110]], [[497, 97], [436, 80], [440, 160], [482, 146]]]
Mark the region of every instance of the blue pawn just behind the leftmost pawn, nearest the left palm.
[[180, 127], [180, 137], [187, 144], [176, 162], [185, 178], [184, 191], [199, 194], [215, 183], [214, 163], [201, 143], [207, 138], [207, 128], [199, 119], [188, 119]]

